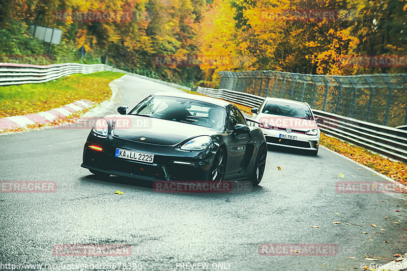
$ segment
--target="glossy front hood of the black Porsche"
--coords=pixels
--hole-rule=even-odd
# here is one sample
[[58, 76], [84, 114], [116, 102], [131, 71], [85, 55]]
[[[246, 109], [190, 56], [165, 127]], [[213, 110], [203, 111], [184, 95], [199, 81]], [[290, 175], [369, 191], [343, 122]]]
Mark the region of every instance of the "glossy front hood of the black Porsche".
[[[113, 119], [115, 123], [114, 137], [156, 145], [172, 146], [195, 136], [219, 133], [207, 127], [146, 116], [109, 115], [105, 118]], [[118, 119], [121, 119], [122, 125]], [[131, 125], [123, 125], [124, 121]]]

